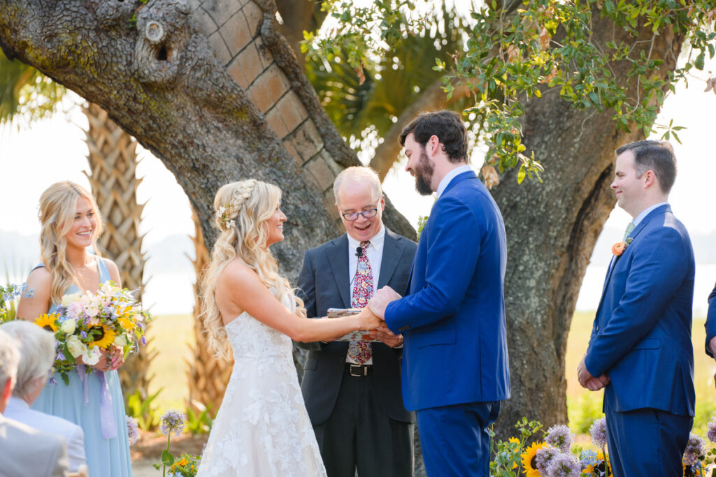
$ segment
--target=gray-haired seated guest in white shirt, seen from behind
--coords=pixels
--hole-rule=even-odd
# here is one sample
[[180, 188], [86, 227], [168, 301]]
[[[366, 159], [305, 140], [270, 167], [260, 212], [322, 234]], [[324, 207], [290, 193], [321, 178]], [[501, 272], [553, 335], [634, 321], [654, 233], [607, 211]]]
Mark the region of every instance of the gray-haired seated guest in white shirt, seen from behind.
[[15, 338], [20, 352], [17, 380], [5, 409], [5, 417], [36, 428], [39, 431], [59, 434], [67, 441], [69, 469], [77, 471], [87, 464], [84, 458], [82, 428], [56, 415], [30, 409], [47, 383], [55, 357], [54, 336], [47, 330], [28, 321], [16, 320], [0, 325], [0, 330]]

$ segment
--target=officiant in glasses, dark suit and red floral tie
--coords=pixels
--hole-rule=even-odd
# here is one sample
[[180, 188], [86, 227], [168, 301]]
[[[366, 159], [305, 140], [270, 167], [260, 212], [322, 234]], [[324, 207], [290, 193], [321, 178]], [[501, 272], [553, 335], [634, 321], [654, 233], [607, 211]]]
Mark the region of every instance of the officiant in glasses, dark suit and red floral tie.
[[[334, 182], [346, 234], [306, 251], [298, 295], [309, 318], [328, 308], [363, 308], [377, 287], [407, 287], [417, 245], [382, 223], [380, 180], [349, 167]], [[329, 477], [412, 477], [415, 415], [400, 390], [402, 335], [379, 343], [297, 343], [310, 350], [301, 391]]]

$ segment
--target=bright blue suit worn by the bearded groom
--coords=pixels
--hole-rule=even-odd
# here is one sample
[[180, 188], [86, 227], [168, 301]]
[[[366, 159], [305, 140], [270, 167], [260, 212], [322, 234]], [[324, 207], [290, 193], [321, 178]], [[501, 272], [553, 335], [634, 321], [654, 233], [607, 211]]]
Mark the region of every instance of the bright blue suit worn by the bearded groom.
[[422, 230], [409, 295], [385, 310], [388, 328], [405, 339], [403, 400], [417, 410], [431, 477], [489, 475], [485, 427], [510, 397], [506, 249], [492, 196], [475, 172], [458, 174]]

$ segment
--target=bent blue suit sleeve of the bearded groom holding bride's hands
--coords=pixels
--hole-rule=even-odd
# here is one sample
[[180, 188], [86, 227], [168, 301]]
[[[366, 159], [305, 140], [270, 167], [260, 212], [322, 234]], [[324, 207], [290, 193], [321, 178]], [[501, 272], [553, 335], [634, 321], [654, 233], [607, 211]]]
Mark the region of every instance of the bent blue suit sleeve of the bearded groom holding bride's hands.
[[485, 222], [458, 198], [435, 202], [430, 236], [425, 238], [429, 240], [425, 286], [387, 305], [385, 321], [393, 333], [435, 323], [458, 311], [475, 273]]

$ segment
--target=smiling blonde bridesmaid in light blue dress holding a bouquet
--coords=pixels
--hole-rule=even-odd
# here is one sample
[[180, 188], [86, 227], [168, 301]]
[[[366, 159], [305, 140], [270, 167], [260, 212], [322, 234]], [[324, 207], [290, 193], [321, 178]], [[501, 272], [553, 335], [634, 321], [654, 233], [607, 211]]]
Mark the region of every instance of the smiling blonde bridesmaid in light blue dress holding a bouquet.
[[[89, 290], [113, 280], [120, 285], [120, 272], [111, 260], [100, 257], [95, 241], [102, 233], [102, 220], [95, 199], [73, 182], [57, 182], [40, 197], [39, 220], [42, 263], [30, 272], [27, 289], [17, 315], [34, 320], [53, 313], [62, 296]], [[92, 246], [95, 255], [87, 252]], [[84, 431], [89, 475], [125, 477], [132, 475], [124, 400], [117, 368], [122, 350], [104, 352], [100, 361], [85, 373], [82, 358], [69, 373], [69, 385], [59, 374], [56, 384], [45, 386], [32, 408], [77, 423]]]

